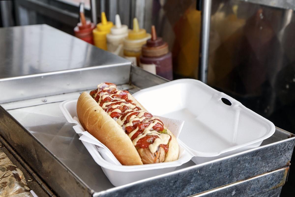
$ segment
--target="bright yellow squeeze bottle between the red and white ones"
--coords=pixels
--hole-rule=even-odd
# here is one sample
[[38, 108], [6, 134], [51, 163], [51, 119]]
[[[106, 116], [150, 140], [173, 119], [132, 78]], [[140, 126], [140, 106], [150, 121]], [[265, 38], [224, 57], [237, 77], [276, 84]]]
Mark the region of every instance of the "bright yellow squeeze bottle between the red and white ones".
[[106, 34], [111, 31], [113, 27], [112, 21], [106, 20], [106, 14], [101, 12], [101, 22], [96, 25], [96, 28], [92, 31], [93, 32], [93, 41], [94, 45], [98, 48], [107, 50], [106, 46]]

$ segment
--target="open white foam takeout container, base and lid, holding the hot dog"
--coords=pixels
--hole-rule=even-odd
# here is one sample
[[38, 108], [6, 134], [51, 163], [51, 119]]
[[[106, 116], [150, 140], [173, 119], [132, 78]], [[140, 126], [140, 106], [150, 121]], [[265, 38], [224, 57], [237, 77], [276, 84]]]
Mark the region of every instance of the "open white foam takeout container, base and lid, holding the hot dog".
[[[181, 133], [171, 129], [176, 137], [179, 134], [178, 160], [123, 166], [106, 146], [84, 130], [76, 118], [77, 99], [60, 104], [67, 121], [76, 124], [73, 128], [79, 139], [115, 186], [171, 172], [191, 159], [199, 164], [258, 147], [275, 131], [275, 126], [267, 119], [194, 79], [167, 82], [142, 89], [133, 96], [152, 114], [184, 121]], [[224, 104], [222, 98], [229, 100], [231, 105]]]

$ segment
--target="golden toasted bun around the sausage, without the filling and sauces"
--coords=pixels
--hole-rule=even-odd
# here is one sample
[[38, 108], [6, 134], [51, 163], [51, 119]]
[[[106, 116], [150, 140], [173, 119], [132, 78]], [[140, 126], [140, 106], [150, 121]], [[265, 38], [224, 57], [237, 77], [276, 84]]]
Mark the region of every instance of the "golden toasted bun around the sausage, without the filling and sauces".
[[[128, 96], [138, 107], [145, 110], [134, 97], [130, 94]], [[122, 165], [142, 165], [135, 146], [122, 126], [111, 118], [87, 92], [83, 92], [78, 98], [77, 114], [82, 126], [106, 145]], [[179, 152], [175, 136], [168, 129], [167, 132], [171, 135], [171, 141], [164, 162], [178, 159]]]

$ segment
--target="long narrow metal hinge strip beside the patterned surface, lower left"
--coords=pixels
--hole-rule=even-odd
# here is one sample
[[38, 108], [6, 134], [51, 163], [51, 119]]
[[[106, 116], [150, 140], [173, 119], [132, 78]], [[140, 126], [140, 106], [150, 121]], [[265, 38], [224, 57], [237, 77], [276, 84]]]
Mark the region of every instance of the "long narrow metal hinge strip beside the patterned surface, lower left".
[[42, 189], [51, 197], [56, 197], [56, 195], [51, 191], [51, 189], [42, 181], [41, 178], [32, 170], [32, 168], [27, 165], [27, 163], [15, 152], [12, 147], [4, 140], [0, 134], [0, 142], [5, 146], [5, 148], [13, 155], [13, 157], [22, 165], [22, 167], [34, 178], [34, 180], [42, 187]]

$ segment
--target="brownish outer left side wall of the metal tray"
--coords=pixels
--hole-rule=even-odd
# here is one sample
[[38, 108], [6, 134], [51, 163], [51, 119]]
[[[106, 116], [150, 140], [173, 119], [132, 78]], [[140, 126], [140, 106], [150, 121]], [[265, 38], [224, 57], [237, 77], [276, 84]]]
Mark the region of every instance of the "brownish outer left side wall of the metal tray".
[[91, 196], [94, 193], [1, 106], [0, 134], [58, 196]]

